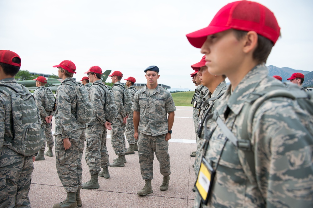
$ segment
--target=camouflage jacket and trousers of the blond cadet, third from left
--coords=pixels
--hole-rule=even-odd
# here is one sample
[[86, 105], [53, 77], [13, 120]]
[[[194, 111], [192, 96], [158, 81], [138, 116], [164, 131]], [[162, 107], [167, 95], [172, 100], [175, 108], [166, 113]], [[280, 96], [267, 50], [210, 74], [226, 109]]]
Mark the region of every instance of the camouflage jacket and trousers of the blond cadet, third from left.
[[[66, 78], [74, 80], [73, 78]], [[76, 95], [74, 87], [60, 85], [56, 92], [55, 156], [59, 178], [67, 192], [77, 192], [82, 187], [81, 158], [84, 150], [85, 124], [76, 120]], [[71, 147], [65, 151], [64, 138]]]

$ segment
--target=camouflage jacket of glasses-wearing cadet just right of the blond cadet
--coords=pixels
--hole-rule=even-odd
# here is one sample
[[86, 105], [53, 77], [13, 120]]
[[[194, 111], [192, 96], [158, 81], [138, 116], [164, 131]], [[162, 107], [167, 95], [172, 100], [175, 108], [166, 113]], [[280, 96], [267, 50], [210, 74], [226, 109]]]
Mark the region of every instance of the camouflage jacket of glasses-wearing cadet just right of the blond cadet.
[[[101, 80], [97, 80], [94, 83]], [[104, 86], [103, 86], [104, 87]], [[87, 125], [101, 126], [105, 124], [104, 104], [105, 104], [105, 91], [97, 84], [92, 85], [89, 89], [88, 99], [92, 103], [92, 118]]]

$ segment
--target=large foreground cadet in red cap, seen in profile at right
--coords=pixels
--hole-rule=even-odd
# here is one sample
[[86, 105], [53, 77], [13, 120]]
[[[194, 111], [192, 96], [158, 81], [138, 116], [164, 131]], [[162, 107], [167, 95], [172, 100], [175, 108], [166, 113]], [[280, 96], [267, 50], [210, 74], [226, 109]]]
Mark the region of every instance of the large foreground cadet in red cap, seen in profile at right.
[[208, 27], [187, 34], [208, 71], [231, 82], [205, 132], [194, 207], [312, 206], [310, 115], [296, 100], [274, 97], [261, 102], [251, 122], [246, 117], [264, 91], [286, 89], [264, 65], [279, 36], [273, 12], [250, 1], [227, 4]]

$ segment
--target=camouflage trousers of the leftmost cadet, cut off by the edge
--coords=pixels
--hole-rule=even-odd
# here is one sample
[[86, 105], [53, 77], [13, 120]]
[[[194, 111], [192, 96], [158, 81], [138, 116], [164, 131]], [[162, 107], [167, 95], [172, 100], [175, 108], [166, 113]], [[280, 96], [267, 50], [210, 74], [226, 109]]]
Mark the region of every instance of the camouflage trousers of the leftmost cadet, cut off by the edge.
[[33, 173], [32, 156], [3, 146], [0, 155], [0, 207], [30, 207], [28, 192]]

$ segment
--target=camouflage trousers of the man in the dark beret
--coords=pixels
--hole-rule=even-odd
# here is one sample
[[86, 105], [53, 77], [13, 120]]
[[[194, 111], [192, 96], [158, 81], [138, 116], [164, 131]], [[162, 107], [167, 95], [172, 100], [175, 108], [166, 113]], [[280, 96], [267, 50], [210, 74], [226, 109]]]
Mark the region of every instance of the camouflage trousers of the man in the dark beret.
[[154, 153], [160, 163], [160, 173], [163, 176], [171, 174], [170, 155], [168, 154], [168, 141], [165, 135], [150, 136], [139, 132], [138, 136], [138, 156], [140, 172], [143, 180], [153, 179], [153, 159]]

